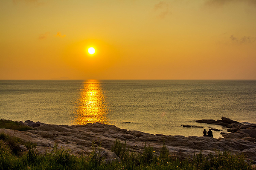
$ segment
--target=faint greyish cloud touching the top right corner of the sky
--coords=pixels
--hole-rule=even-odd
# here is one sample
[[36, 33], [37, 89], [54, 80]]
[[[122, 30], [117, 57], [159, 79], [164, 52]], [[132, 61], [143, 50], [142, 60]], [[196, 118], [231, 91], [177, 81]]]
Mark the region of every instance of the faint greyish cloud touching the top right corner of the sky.
[[224, 6], [229, 3], [248, 3], [256, 5], [256, 0], [206, 0], [205, 5], [207, 6]]

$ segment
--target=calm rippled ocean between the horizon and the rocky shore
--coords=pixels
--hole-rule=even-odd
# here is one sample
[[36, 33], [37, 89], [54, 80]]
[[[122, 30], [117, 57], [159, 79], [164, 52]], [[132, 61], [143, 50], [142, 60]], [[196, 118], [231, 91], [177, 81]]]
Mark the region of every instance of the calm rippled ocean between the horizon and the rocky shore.
[[195, 120], [222, 116], [256, 123], [256, 80], [0, 80], [2, 119], [202, 136], [204, 128], [226, 130]]

